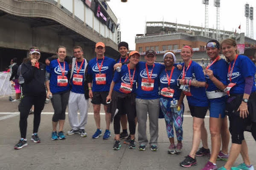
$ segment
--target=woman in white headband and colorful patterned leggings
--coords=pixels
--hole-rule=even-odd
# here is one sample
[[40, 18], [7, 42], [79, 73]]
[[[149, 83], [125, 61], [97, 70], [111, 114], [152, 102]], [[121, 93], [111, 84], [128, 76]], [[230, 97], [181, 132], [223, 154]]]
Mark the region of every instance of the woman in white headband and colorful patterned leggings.
[[[165, 70], [160, 74], [160, 108], [163, 112], [166, 121], [166, 131], [167, 136], [170, 141], [170, 146], [168, 148], [168, 153], [179, 154], [182, 149], [182, 139], [183, 139], [183, 112], [184, 104], [183, 100], [180, 99], [181, 90], [177, 85], [177, 79], [181, 74], [181, 70], [175, 68], [174, 63], [176, 62], [176, 56], [173, 51], [166, 51], [163, 55], [163, 62], [165, 65]], [[171, 108], [171, 102], [175, 100], [175, 108]], [[174, 104], [174, 103], [173, 103]], [[178, 108], [177, 108], [178, 106]], [[174, 130], [175, 127], [177, 136], [177, 145], [174, 143]]]

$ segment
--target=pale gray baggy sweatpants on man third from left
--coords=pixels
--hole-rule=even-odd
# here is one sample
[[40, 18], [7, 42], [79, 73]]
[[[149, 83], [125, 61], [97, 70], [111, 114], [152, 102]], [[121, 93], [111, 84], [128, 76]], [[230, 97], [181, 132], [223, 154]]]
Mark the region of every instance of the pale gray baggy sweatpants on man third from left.
[[[85, 99], [84, 94], [70, 91], [68, 100], [68, 119], [73, 130], [84, 129], [84, 126], [87, 123], [88, 101], [88, 99]], [[80, 121], [78, 118], [78, 110], [80, 112]]]

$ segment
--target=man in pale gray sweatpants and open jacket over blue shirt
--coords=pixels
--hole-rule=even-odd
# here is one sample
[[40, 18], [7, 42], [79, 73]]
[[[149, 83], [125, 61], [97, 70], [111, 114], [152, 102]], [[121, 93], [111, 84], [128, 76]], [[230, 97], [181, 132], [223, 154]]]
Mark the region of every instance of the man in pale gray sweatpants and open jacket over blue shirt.
[[[80, 46], [73, 48], [75, 58], [71, 63], [70, 84], [71, 91], [68, 101], [68, 118], [72, 129], [67, 132], [68, 135], [79, 133], [80, 136], [86, 137], [87, 133], [84, 126], [87, 123], [87, 113], [89, 107], [87, 77], [87, 60], [83, 57], [83, 50]], [[78, 117], [80, 113], [80, 120]]]

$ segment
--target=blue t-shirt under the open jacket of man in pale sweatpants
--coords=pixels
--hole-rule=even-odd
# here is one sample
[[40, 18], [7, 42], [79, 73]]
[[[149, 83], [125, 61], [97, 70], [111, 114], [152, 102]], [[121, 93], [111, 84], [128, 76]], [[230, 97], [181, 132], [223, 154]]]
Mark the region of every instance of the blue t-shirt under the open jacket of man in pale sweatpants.
[[[80, 66], [81, 66], [81, 63], [82, 62], [77, 62], [77, 68], [79, 69]], [[86, 70], [86, 68], [84, 68], [84, 65], [85, 65], [85, 59], [84, 59], [84, 63], [81, 67], [81, 70], [79, 71], [79, 74], [83, 76], [83, 81], [82, 81], [82, 85], [74, 85], [73, 84], [73, 76], [74, 74], [77, 74], [77, 71], [76, 71], [76, 64], [75, 64], [75, 68], [74, 68], [74, 72], [73, 72], [73, 75], [71, 75], [71, 91], [74, 92], [74, 93], [79, 93], [79, 94], [84, 94], [85, 91], [84, 91], [84, 72]]]

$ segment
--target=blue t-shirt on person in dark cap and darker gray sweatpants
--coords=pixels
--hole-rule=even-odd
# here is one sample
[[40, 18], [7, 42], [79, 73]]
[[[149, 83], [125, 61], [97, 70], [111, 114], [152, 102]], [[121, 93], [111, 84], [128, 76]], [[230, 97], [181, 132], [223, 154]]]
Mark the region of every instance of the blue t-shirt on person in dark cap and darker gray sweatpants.
[[[159, 98], [159, 75], [164, 70], [165, 66], [159, 63], [154, 63], [154, 69], [151, 79], [154, 79], [154, 88], [152, 91], [143, 91], [141, 87], [142, 79], [148, 79], [145, 62], [138, 64], [138, 84], [136, 91], [136, 98], [138, 99], [158, 99]], [[148, 65], [148, 74], [150, 76], [153, 65]]]

